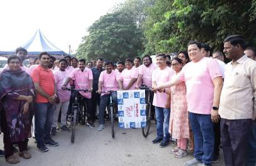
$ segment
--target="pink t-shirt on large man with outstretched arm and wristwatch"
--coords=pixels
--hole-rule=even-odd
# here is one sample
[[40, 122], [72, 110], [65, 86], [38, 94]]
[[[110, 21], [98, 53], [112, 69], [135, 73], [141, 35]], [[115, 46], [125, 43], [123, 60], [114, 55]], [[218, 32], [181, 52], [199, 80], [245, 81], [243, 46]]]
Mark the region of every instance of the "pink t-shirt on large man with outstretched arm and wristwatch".
[[219, 64], [212, 58], [189, 62], [177, 75], [187, 87], [188, 111], [196, 114], [211, 114], [214, 95], [212, 80], [222, 77]]

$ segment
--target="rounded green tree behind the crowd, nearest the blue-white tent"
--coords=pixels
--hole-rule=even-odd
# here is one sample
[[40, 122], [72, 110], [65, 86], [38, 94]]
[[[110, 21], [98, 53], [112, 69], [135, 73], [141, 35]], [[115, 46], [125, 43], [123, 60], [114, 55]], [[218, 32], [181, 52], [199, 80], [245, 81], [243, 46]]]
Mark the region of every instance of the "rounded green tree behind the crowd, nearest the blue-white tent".
[[102, 16], [88, 28], [88, 32], [78, 47], [78, 57], [103, 57], [117, 62], [141, 55], [144, 51], [143, 32], [133, 18], [122, 11]]

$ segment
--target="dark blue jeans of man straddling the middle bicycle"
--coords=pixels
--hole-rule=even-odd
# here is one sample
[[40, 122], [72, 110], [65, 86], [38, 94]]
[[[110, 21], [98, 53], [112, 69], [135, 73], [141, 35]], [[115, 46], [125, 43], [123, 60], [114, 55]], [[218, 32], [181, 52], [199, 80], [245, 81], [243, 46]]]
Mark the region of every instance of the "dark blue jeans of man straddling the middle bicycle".
[[[100, 124], [105, 124], [104, 120], [104, 114], [106, 107], [108, 105], [108, 102], [110, 102], [110, 94], [105, 94], [103, 96], [100, 96], [100, 108], [98, 113], [98, 119]], [[115, 109], [117, 111], [117, 92], [112, 92], [112, 102], [115, 104]]]

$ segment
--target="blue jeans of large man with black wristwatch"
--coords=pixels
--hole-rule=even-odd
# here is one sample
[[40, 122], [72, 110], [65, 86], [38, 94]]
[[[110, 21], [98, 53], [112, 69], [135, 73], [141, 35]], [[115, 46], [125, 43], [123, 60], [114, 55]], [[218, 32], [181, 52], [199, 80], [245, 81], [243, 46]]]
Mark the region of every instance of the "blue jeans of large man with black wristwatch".
[[211, 165], [214, 152], [214, 129], [211, 114], [189, 112], [189, 121], [194, 135], [194, 157]]

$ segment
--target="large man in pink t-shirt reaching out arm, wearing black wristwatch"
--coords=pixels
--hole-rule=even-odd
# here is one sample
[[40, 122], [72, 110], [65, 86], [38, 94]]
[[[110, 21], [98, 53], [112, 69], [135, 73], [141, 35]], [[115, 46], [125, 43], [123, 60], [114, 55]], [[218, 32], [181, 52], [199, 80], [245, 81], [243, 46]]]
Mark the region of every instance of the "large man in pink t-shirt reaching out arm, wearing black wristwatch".
[[202, 56], [201, 48], [201, 43], [190, 42], [188, 52], [192, 62], [183, 67], [176, 79], [153, 87], [155, 91], [185, 81], [189, 121], [195, 142], [195, 158], [186, 162], [186, 165], [211, 165], [214, 151], [212, 122], [219, 121], [219, 98], [223, 84], [221, 70], [216, 60]]

